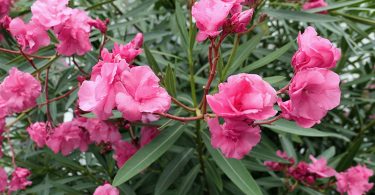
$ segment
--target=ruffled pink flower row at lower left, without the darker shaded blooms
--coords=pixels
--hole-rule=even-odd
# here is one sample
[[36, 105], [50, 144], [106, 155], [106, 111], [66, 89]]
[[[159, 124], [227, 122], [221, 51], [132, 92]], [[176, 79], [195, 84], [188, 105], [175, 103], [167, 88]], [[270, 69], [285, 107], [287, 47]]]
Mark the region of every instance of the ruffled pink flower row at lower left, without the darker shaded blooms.
[[53, 152], [61, 151], [63, 155], [78, 148], [84, 152], [92, 142], [116, 143], [121, 140], [121, 134], [113, 124], [87, 118], [75, 118], [56, 128], [37, 122], [30, 125], [27, 132], [38, 147], [47, 145]]

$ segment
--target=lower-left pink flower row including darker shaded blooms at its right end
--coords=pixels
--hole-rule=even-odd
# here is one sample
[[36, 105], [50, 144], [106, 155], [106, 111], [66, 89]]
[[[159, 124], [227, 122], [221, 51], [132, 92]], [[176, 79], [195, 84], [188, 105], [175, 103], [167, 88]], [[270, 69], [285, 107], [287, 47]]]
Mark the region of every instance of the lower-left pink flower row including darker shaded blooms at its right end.
[[154, 139], [159, 131], [155, 127], [143, 127], [139, 145], [122, 140], [118, 127], [110, 122], [94, 118], [78, 117], [52, 128], [48, 123], [37, 122], [27, 128], [30, 138], [38, 147], [47, 145], [54, 153], [69, 155], [73, 150], [84, 152], [91, 143], [109, 144], [114, 158], [121, 167], [140, 147]]

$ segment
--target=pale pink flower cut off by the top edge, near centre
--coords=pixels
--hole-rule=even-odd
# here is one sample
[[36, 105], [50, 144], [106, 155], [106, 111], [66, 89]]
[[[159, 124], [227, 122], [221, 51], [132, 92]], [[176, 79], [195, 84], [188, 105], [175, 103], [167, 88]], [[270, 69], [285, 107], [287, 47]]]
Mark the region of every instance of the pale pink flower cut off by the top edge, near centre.
[[216, 37], [221, 32], [236, 0], [200, 0], [192, 7], [192, 15], [199, 29], [197, 41]]

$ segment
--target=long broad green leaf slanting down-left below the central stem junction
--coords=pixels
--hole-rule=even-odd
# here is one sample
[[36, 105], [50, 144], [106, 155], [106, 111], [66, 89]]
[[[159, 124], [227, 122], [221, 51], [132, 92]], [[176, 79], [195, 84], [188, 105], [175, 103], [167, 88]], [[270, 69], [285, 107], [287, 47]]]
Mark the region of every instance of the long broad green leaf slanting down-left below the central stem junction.
[[117, 172], [113, 185], [121, 185], [156, 161], [181, 136], [184, 132], [183, 127], [176, 124], [163, 130], [151, 143], [138, 150]]

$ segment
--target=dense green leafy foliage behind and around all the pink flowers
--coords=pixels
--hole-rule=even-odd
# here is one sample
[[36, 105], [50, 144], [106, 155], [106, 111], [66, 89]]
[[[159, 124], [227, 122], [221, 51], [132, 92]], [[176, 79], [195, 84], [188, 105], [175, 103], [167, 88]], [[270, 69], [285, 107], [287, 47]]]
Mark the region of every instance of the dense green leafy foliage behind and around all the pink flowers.
[[[210, 147], [205, 124], [161, 120], [158, 123], [166, 127], [162, 131], [165, 134], [151, 145], [159, 146], [162, 141], [166, 144], [161, 145], [160, 151], [154, 151], [152, 147], [142, 149], [137, 157], [156, 152], [156, 155], [145, 159], [146, 163], [140, 163], [140, 159], [129, 162], [128, 167], [136, 166], [139, 170], [133, 175], [128, 168], [122, 170], [122, 176], [130, 174], [125, 175], [125, 179], [122, 177], [123, 181], [126, 180], [119, 186], [122, 193], [256, 194], [261, 191], [263, 194], [285, 194], [282, 178], [263, 166], [264, 160], [282, 161], [275, 155], [278, 149], [298, 160], [308, 160], [310, 154], [325, 156], [337, 170], [357, 163], [375, 168], [375, 1], [329, 0], [328, 7], [308, 12], [301, 11], [301, 2], [264, 1], [256, 11], [254, 21], [262, 13], [269, 16], [267, 20], [238, 40], [235, 36], [225, 40], [221, 48], [218, 77], [213, 86], [225, 81], [229, 75], [240, 72], [259, 74], [276, 89], [285, 86], [293, 73], [290, 61], [297, 49], [296, 37], [305, 27], [312, 25], [321, 36], [341, 48], [342, 58], [335, 68], [342, 79], [341, 105], [329, 112], [313, 129], [302, 129], [286, 121], [263, 126], [261, 143], [241, 161], [222, 158], [218, 151]], [[11, 16], [29, 18], [32, 3], [30, 0], [18, 0]], [[69, 4], [87, 10], [93, 18], [110, 18], [109, 41], [105, 45], [108, 49], [112, 48], [114, 42], [126, 43], [137, 32], [144, 33], [144, 53], [136, 64], [152, 66], [163, 77], [163, 84], [170, 94], [190, 106], [194, 104], [189, 76], [189, 59], [192, 60], [197, 99], [201, 98], [208, 77], [208, 43], [195, 43], [196, 29], [194, 26], [193, 31], [189, 31], [189, 6], [186, 1], [71, 0]], [[317, 14], [322, 10], [329, 10], [329, 14]], [[5, 41], [0, 43], [1, 47], [16, 49], [16, 43], [9, 34], [3, 34]], [[97, 63], [102, 39], [99, 31], [94, 30], [91, 35], [94, 50], [83, 57], [75, 57], [87, 72]], [[55, 38], [52, 40], [56, 43]], [[235, 57], [228, 62], [236, 41], [240, 43], [239, 47]], [[38, 55], [54, 55], [53, 46], [43, 48]], [[42, 70], [52, 63], [48, 80], [50, 98], [58, 97], [78, 85], [77, 76], [80, 73], [72, 60], [65, 57], [53, 61], [35, 60]], [[0, 80], [13, 66], [27, 72], [34, 71], [22, 56], [0, 53]], [[43, 71], [42, 78], [45, 78], [44, 74]], [[43, 97], [38, 100], [39, 103], [45, 101]], [[77, 92], [74, 92], [50, 104], [56, 124], [71, 117], [76, 99]], [[172, 107], [170, 112], [180, 116], [190, 114], [177, 107]], [[33, 181], [31, 187], [19, 194], [90, 194], [96, 186], [104, 181], [112, 182], [116, 176], [118, 168], [112, 153], [102, 153], [100, 146], [91, 146], [86, 153], [75, 152], [68, 157], [55, 155], [47, 148], [37, 149], [25, 129], [31, 122], [46, 120], [45, 107], [14, 116], [8, 123], [15, 120], [11, 138], [14, 140], [17, 164], [31, 169]], [[205, 143], [202, 154], [205, 174], [202, 174], [199, 155], [195, 150], [197, 128], [202, 130]], [[129, 139], [126, 130], [121, 132], [124, 139]], [[5, 156], [0, 159], [0, 166], [10, 167], [9, 147], [5, 140], [4, 150]], [[320, 193], [330, 192], [297, 187], [295, 192], [288, 194]]]

